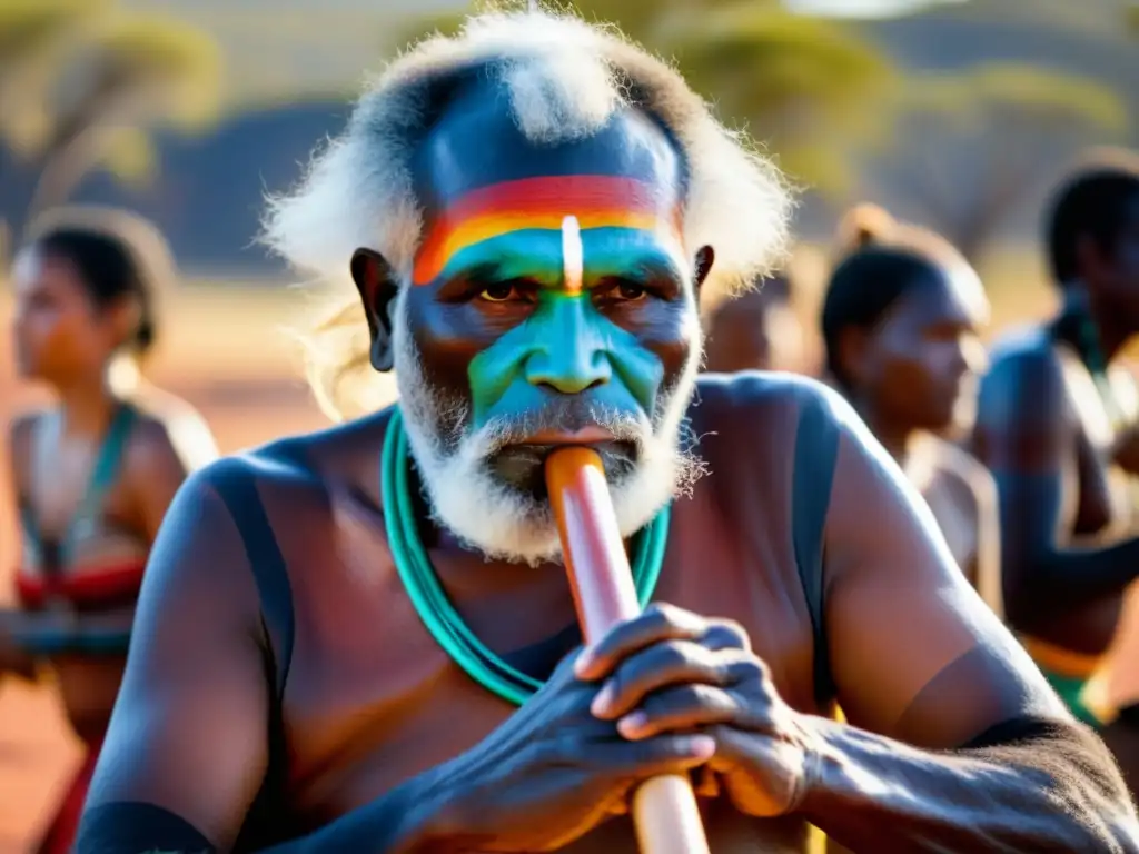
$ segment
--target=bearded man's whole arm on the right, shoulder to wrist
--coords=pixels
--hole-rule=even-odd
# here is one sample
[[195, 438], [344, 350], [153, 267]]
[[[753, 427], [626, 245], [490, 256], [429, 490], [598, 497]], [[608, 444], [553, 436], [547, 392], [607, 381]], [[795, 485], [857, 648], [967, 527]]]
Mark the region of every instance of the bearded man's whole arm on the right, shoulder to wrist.
[[810, 718], [805, 818], [854, 851], [1139, 852], [1103, 744], [967, 584], [866, 426], [828, 400], [842, 440], [826, 625], [851, 725]]

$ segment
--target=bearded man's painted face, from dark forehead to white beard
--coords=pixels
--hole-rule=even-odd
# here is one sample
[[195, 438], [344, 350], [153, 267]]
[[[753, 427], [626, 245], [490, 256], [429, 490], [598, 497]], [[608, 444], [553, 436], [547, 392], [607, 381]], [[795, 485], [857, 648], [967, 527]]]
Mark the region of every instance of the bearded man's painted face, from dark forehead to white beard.
[[489, 96], [453, 105], [415, 163], [424, 239], [395, 369], [441, 520], [490, 555], [536, 561], [558, 549], [551, 449], [601, 453], [625, 533], [685, 476], [694, 253], [680, 159], [648, 118], [534, 146]]

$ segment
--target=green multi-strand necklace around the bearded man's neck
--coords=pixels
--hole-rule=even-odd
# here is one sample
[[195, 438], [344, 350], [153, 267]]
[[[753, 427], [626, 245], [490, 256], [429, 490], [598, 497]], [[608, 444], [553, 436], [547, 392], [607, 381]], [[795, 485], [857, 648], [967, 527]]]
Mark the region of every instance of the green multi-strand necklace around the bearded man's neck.
[[[521, 706], [542, 682], [515, 670], [487, 649], [451, 605], [435, 575], [416, 525], [409, 486], [411, 459], [408, 434], [399, 408], [392, 412], [380, 457], [379, 484], [384, 524], [395, 570], [427, 631], [467, 674], [502, 699]], [[641, 607], [653, 598], [669, 543], [670, 508], [666, 504], [637, 535], [632, 575]]]

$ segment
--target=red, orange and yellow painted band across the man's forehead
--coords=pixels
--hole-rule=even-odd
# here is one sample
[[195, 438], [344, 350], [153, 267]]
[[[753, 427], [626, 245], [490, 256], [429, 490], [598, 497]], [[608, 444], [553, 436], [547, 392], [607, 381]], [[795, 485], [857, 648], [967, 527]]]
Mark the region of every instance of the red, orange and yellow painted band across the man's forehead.
[[435, 220], [416, 257], [411, 280], [428, 285], [465, 251], [518, 231], [562, 230], [572, 212], [581, 230], [605, 228], [670, 232], [679, 240], [679, 212], [662, 220], [652, 187], [614, 175], [527, 178], [483, 187], [449, 205]]

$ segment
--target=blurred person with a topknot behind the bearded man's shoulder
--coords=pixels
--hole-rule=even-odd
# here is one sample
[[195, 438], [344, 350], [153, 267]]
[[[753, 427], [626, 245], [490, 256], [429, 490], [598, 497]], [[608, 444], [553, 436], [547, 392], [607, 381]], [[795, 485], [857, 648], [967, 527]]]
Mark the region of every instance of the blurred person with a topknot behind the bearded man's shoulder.
[[968, 429], [989, 303], [943, 238], [860, 205], [822, 306], [830, 379], [921, 493], [961, 570], [1003, 611], [997, 487], [942, 436]]

